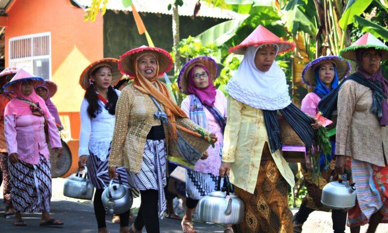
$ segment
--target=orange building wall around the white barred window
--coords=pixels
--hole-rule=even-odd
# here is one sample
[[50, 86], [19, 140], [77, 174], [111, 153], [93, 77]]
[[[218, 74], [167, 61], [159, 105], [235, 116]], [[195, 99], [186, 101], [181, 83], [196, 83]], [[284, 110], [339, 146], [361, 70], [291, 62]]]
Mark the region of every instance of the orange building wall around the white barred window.
[[7, 14], [5, 66], [9, 38], [51, 32], [51, 77], [58, 85], [52, 100], [61, 115], [73, 113], [72, 138], [78, 138], [77, 112], [85, 93], [78, 82], [85, 67], [103, 58], [102, 16], [84, 22], [84, 11], [69, 0], [15, 0]]

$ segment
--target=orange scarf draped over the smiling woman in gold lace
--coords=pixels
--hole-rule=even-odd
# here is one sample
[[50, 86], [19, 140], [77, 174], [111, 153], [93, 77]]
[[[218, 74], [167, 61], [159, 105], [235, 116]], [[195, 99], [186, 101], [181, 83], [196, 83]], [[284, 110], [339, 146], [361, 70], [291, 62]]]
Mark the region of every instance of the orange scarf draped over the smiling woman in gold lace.
[[[158, 59], [156, 58], [157, 62], [157, 70], [156, 70], [156, 75], [153, 79], [148, 80], [146, 77], [144, 77], [140, 72], [139, 69], [137, 68], [137, 61], [138, 59], [144, 54], [141, 54], [140, 56], [138, 55], [135, 59], [133, 59], [133, 67], [135, 70], [135, 78], [133, 80], [133, 86], [136, 87], [141, 93], [146, 94], [146, 95], [151, 95], [154, 97], [159, 103], [164, 105], [164, 111], [167, 114], [168, 120], [172, 125], [172, 128], [170, 129], [169, 127], [169, 138], [171, 139], [177, 139], [177, 127], [175, 125], [175, 116], [177, 117], [185, 117], [186, 113], [183, 112], [181, 108], [179, 108], [178, 105], [176, 105], [171, 99], [170, 99], [170, 94], [166, 88], [165, 85], [161, 81], [158, 80], [158, 73], [159, 73], [159, 62]], [[154, 54], [152, 54], [155, 56]], [[156, 88], [154, 85], [158, 85], [159, 90]]]

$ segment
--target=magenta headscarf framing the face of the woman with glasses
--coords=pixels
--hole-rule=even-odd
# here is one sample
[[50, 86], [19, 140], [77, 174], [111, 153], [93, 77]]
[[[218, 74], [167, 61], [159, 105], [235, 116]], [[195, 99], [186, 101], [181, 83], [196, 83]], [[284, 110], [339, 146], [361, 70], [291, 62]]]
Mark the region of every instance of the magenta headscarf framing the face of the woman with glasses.
[[[199, 89], [196, 87], [194, 82], [194, 70], [195, 67], [201, 67], [207, 72], [207, 78], [209, 85], [205, 88]], [[202, 104], [205, 104], [210, 107], [214, 107], [215, 102], [215, 95], [216, 95], [216, 89], [214, 87], [213, 82], [211, 81], [209, 70], [206, 68], [206, 66], [202, 64], [196, 64], [193, 66], [193, 68], [189, 72], [188, 77], [189, 85], [188, 85], [188, 93], [193, 94], [201, 101]]]

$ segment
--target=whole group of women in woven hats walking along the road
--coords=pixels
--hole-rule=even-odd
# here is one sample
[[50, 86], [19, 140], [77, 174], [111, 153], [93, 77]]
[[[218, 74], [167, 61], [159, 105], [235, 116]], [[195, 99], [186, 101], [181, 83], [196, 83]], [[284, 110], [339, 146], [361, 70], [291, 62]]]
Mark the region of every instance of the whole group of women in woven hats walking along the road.
[[[245, 203], [243, 221], [225, 225], [225, 233], [300, 233], [311, 212], [329, 211], [320, 203], [322, 188], [332, 171], [338, 176], [344, 169], [352, 173], [356, 183], [357, 204], [348, 211], [332, 211], [334, 233], [345, 231], [346, 219], [352, 233], [367, 223], [368, 232], [375, 232], [379, 223], [387, 223], [388, 146], [384, 145], [388, 134], [384, 126], [388, 123], [388, 81], [380, 63], [388, 58], [388, 47], [367, 33], [343, 50], [342, 57], [358, 65], [346, 79], [350, 64], [341, 57], [325, 56], [308, 63], [302, 78], [313, 90], [302, 100], [301, 110], [291, 103], [286, 75], [275, 61], [278, 54], [293, 48], [291, 42], [258, 26], [230, 49], [243, 59], [226, 85], [227, 98], [214, 85], [218, 73], [214, 59], [188, 61], [178, 76], [179, 89], [187, 95], [181, 107], [173, 101], [166, 84], [158, 80], [173, 64], [163, 49], [142, 46], [120, 59], [103, 58], [86, 67], [80, 77], [86, 92], [80, 111], [79, 166], [88, 167], [96, 187], [98, 232], [108, 232], [102, 191], [110, 179], [117, 182], [119, 175], [141, 196], [131, 226], [130, 211], [115, 217], [120, 233], [140, 233], [144, 228], [158, 233], [159, 218], [167, 208], [168, 155], [180, 156], [184, 153], [180, 148], [189, 148], [188, 144], [199, 156], [194, 158], [194, 169], [186, 170], [184, 233], [195, 233], [195, 207], [216, 189], [224, 175], [229, 175], [235, 194]], [[123, 74], [133, 82], [119, 81]], [[40, 225], [62, 225], [49, 214], [48, 145], [58, 156], [62, 152], [58, 133], [62, 126], [50, 101], [55, 83], [44, 83], [22, 69], [4, 70], [0, 79], [7, 91], [0, 95], [0, 128], [4, 125], [5, 132], [5, 137], [0, 135], [5, 214], [15, 214], [14, 225], [25, 226], [21, 213], [42, 211]], [[312, 178], [317, 168], [311, 168], [308, 158], [302, 164], [308, 194], [293, 216], [288, 186], [294, 186], [294, 175], [282, 154], [278, 113], [309, 151], [316, 129], [323, 127], [315, 117], [318, 112], [326, 118], [337, 116], [336, 135], [330, 138], [333, 150], [319, 155], [319, 179]], [[201, 136], [189, 134], [184, 139], [182, 129]]]

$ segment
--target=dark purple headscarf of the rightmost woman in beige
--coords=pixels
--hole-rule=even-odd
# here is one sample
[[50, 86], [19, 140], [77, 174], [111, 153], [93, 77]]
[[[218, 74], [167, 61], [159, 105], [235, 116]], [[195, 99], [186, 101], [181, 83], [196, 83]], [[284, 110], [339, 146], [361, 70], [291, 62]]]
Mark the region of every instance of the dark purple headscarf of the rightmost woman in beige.
[[[376, 82], [376, 81], [381, 82], [382, 87], [383, 87], [383, 92], [385, 95], [385, 100], [382, 103], [383, 117], [381, 117], [381, 119], [380, 119], [380, 125], [388, 125], [388, 104], [387, 104], [388, 80], [385, 79], [383, 76], [383, 73], [381, 70], [381, 64], [380, 64], [379, 69], [373, 74], [368, 73], [364, 69], [362, 56], [363, 56], [363, 53], [368, 51], [368, 50], [371, 50], [371, 49], [358, 49], [358, 50], [356, 50], [356, 61], [358, 64], [357, 72], [360, 73], [364, 78], [366, 78], [372, 82]], [[375, 49], [373, 49], [373, 50], [375, 50]]]

